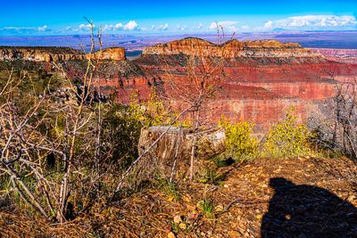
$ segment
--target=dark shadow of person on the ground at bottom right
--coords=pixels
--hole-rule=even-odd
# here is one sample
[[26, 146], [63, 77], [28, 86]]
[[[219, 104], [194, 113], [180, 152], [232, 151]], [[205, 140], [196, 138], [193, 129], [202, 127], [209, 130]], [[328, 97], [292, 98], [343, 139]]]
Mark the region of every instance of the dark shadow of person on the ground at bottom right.
[[262, 217], [262, 237], [357, 237], [357, 209], [328, 190], [270, 179], [275, 194]]

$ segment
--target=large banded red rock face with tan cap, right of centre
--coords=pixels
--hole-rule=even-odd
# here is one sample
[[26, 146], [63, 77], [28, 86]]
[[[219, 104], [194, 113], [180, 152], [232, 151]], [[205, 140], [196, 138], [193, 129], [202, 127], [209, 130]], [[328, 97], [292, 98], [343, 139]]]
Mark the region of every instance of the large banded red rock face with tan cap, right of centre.
[[[203, 119], [216, 122], [222, 114], [233, 121], [249, 120], [258, 131], [286, 116], [295, 106], [307, 119], [318, 104], [336, 94], [336, 84], [357, 78], [357, 64], [330, 61], [295, 43], [274, 40], [229, 41], [214, 45], [197, 38], [185, 38], [145, 48], [135, 60], [148, 80], [170, 98], [172, 86], [187, 83], [187, 58], [224, 57], [228, 80], [206, 105]], [[185, 105], [170, 98], [175, 107]], [[177, 100], [177, 98], [176, 98]]]

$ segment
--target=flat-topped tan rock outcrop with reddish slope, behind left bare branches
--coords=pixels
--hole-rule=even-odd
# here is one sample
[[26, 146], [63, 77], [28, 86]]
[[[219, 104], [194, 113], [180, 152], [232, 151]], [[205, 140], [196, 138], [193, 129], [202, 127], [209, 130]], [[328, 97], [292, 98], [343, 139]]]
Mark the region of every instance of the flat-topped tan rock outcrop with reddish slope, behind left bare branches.
[[[62, 64], [69, 78], [83, 78], [87, 70], [87, 59], [103, 60], [96, 69], [93, 83], [100, 84], [102, 94], [117, 94], [118, 100], [128, 103], [134, 92], [141, 99], [148, 99], [150, 86], [145, 73], [133, 62], [126, 59], [125, 49], [121, 47], [105, 48], [95, 53], [82, 53], [68, 47], [0, 47], [0, 73], [7, 65], [14, 70], [28, 70], [36, 73], [44, 71], [44, 77], [59, 74], [51, 62]], [[62, 76], [62, 74], [60, 74]]]

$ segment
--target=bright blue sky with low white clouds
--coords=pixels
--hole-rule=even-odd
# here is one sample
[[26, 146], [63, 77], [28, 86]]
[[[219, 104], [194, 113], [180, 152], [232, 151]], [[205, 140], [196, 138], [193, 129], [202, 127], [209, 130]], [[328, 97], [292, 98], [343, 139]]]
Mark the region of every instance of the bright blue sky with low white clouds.
[[108, 34], [214, 32], [215, 21], [230, 32], [357, 29], [357, 0], [1, 0], [0, 5], [3, 37], [85, 34], [83, 16]]

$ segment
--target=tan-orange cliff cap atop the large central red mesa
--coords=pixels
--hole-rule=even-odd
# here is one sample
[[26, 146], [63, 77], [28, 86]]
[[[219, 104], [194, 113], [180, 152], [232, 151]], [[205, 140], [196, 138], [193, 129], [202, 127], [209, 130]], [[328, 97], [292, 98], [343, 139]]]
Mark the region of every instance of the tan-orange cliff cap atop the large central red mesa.
[[143, 54], [186, 54], [199, 57], [316, 57], [297, 43], [281, 43], [276, 40], [238, 41], [230, 40], [222, 45], [215, 45], [200, 38], [187, 37], [167, 44], [146, 47]]

